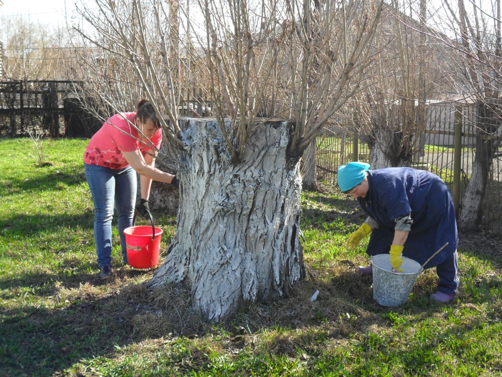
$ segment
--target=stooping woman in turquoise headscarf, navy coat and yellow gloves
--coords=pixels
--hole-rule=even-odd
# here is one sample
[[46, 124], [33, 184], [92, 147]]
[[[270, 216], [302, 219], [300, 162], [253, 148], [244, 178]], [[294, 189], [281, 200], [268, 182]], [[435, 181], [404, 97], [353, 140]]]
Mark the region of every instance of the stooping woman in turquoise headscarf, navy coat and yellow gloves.
[[[340, 166], [337, 180], [341, 191], [357, 199], [368, 215], [350, 235], [347, 248], [355, 249], [371, 234], [366, 253], [390, 253], [393, 269], [402, 272], [403, 255], [423, 264], [448, 242], [424, 268], [436, 267], [439, 277], [438, 291], [431, 300], [453, 300], [459, 284], [458, 234], [453, 201], [443, 180], [429, 171], [409, 167], [369, 170], [362, 162]], [[357, 270], [372, 274], [371, 265]]]

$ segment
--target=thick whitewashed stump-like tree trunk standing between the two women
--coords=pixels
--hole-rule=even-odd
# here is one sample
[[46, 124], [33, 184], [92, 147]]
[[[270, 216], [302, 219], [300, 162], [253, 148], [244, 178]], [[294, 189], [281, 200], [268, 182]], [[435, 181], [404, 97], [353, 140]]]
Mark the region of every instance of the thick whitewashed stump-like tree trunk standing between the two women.
[[286, 154], [290, 125], [261, 126], [234, 163], [216, 121], [180, 123], [186, 157], [178, 227], [150, 287], [184, 284], [195, 309], [213, 321], [287, 296], [304, 275], [299, 162]]

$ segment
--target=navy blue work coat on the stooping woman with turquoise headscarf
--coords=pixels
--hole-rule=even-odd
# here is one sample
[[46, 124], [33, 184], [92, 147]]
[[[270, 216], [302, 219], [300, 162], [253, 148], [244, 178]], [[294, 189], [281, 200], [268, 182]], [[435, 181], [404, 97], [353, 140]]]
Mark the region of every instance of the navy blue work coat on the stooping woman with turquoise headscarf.
[[413, 224], [403, 255], [423, 264], [448, 242], [424, 268], [442, 263], [457, 249], [455, 209], [448, 187], [437, 175], [409, 167], [368, 170], [368, 193], [359, 205], [379, 228], [371, 231], [368, 255], [389, 253], [396, 219], [411, 213]]

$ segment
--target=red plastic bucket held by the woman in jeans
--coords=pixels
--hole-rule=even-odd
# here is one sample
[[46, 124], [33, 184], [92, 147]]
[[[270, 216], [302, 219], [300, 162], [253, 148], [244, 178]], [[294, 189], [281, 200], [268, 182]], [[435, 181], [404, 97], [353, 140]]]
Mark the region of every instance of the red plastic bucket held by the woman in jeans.
[[[153, 232], [155, 229], [155, 233]], [[154, 234], [152, 234], [154, 233]], [[160, 228], [138, 225], [124, 229], [127, 262], [134, 268], [152, 268], [159, 263]]]

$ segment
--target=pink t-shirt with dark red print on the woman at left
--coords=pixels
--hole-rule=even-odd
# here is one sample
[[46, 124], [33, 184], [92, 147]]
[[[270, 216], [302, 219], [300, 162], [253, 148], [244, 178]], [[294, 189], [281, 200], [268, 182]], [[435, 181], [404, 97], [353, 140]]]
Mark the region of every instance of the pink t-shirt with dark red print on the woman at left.
[[[135, 117], [136, 113], [122, 113], [108, 119], [87, 144], [84, 162], [89, 165], [122, 169], [129, 166], [122, 152], [139, 149], [145, 155], [150, 147], [136, 140], [139, 139], [139, 136], [133, 126]], [[157, 149], [160, 148], [162, 128], [159, 128], [150, 140]]]

